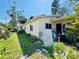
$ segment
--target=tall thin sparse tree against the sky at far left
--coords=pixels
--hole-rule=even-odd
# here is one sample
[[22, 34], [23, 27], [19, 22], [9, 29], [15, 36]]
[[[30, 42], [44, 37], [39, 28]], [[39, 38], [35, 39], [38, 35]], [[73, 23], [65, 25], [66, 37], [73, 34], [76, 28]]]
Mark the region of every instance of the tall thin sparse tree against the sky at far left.
[[11, 6], [10, 10], [7, 11], [7, 14], [11, 17], [11, 21], [9, 24], [11, 24], [14, 28], [17, 26], [17, 20], [16, 20], [16, 6], [15, 1], [12, 1], [13, 5]]

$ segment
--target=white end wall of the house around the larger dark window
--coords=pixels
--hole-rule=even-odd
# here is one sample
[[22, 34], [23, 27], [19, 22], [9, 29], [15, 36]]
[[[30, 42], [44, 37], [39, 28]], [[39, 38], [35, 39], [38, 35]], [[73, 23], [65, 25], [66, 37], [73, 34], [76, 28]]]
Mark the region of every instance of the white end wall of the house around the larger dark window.
[[42, 33], [40, 38], [43, 40], [45, 46], [51, 46], [53, 44], [52, 29], [46, 29], [46, 23], [52, 24], [50, 20], [52, 19], [41, 18], [39, 22], [39, 33]]

